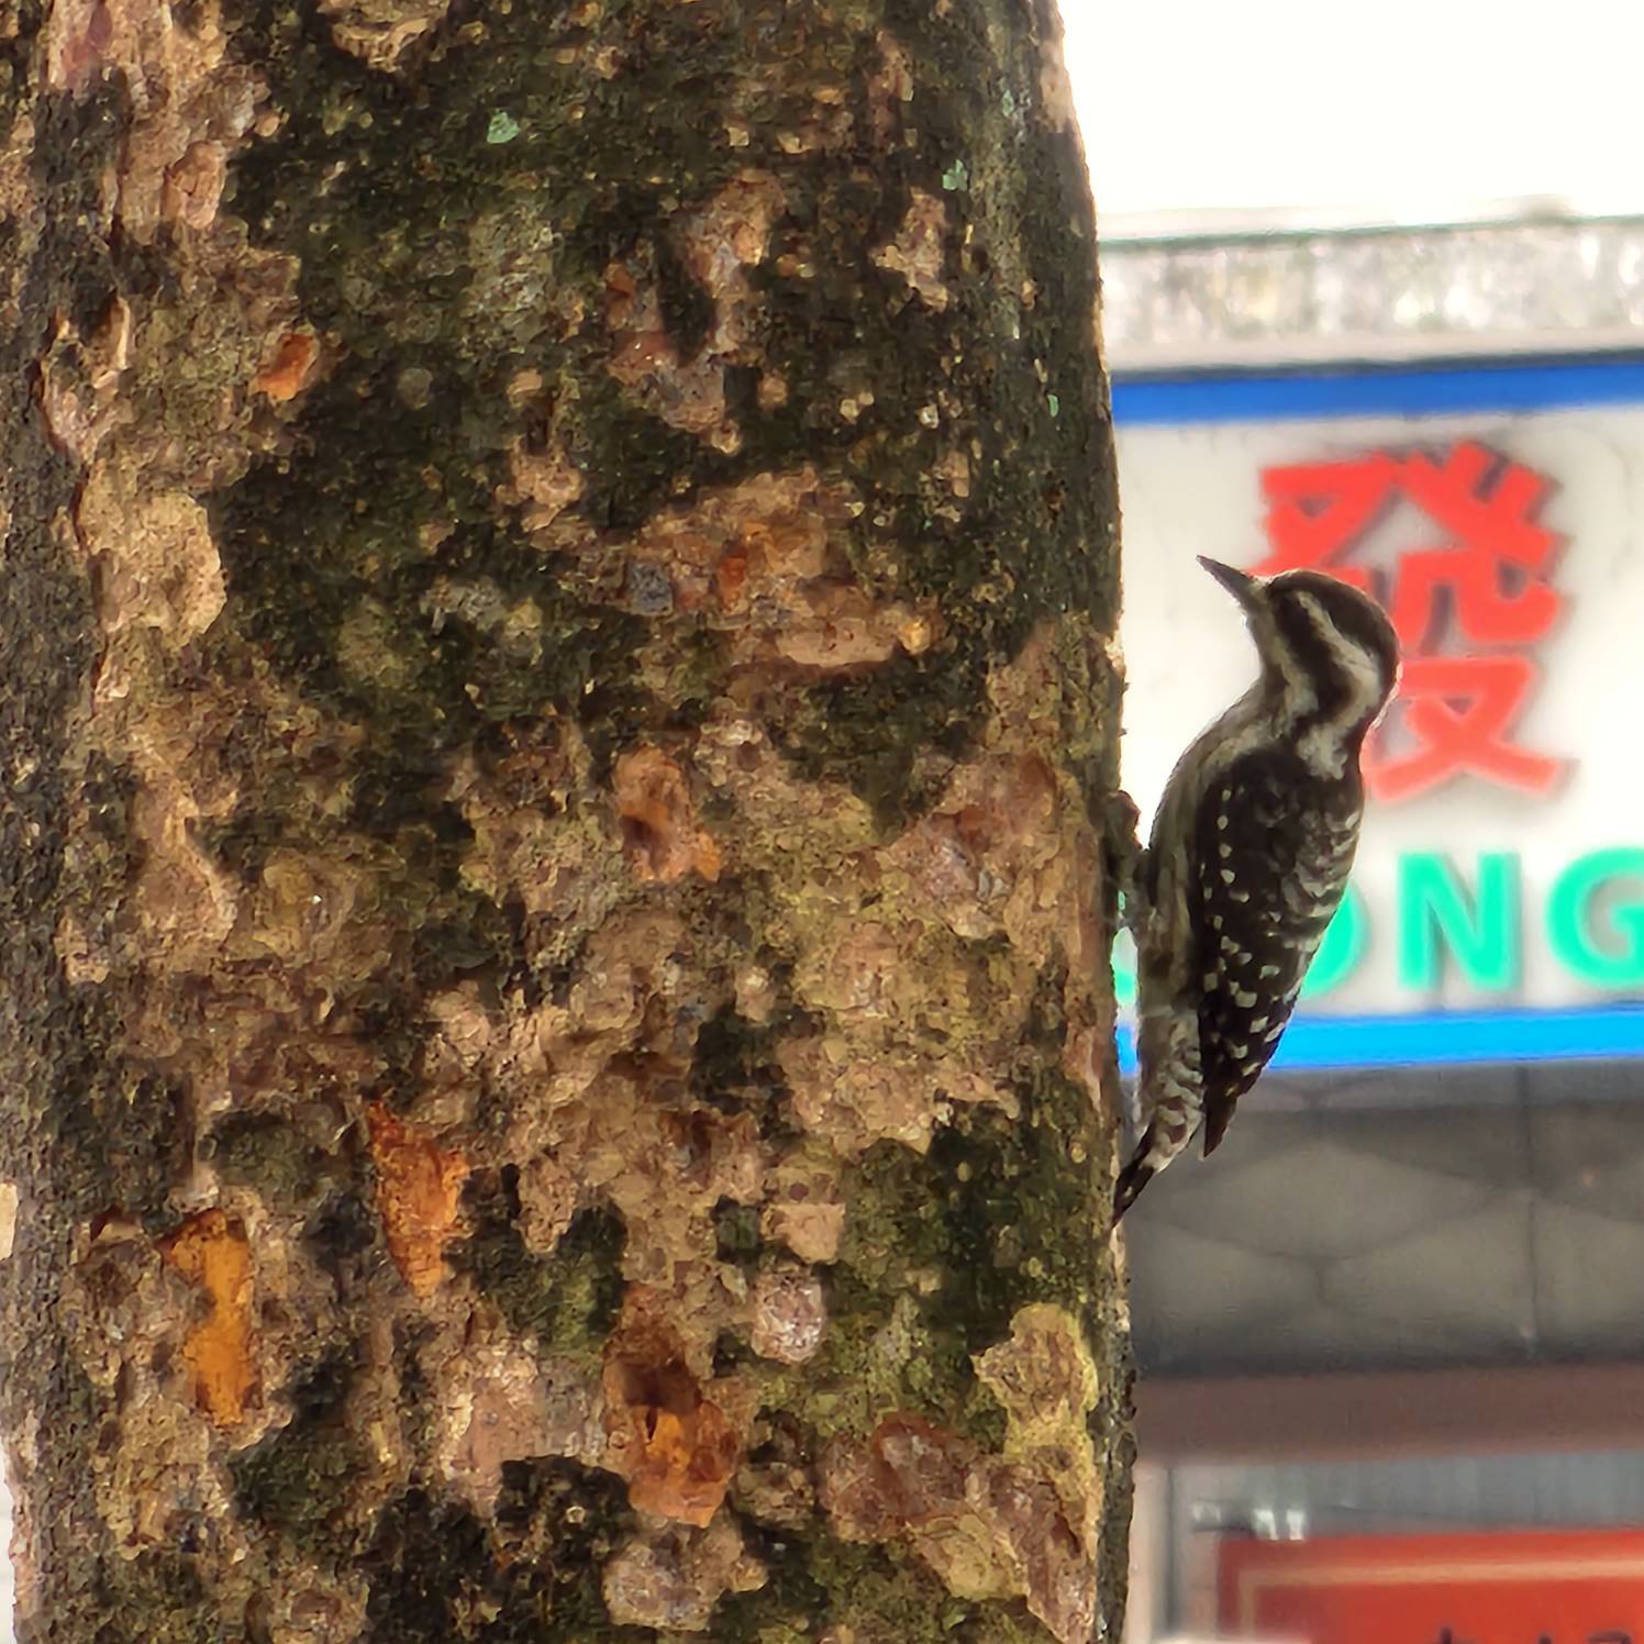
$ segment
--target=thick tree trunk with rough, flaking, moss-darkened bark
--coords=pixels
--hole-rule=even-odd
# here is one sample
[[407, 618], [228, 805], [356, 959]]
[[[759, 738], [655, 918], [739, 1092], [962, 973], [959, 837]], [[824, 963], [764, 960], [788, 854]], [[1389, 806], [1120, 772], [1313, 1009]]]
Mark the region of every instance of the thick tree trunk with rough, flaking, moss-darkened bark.
[[20, 1636], [1115, 1632], [1049, 0], [18, 0], [0, 122]]

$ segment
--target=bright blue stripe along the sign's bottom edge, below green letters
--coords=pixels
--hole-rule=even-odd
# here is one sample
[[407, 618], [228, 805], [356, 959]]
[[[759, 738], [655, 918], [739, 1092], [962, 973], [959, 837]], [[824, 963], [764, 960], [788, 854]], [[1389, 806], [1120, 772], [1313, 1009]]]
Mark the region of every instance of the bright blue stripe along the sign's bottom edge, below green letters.
[[[1276, 1069], [1435, 1067], [1457, 1062], [1562, 1062], [1644, 1057], [1644, 1006], [1570, 1011], [1457, 1011], [1443, 1016], [1299, 1016]], [[1120, 1070], [1136, 1072], [1128, 1024]]]

